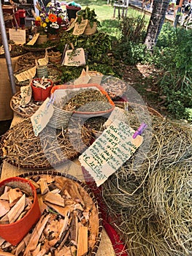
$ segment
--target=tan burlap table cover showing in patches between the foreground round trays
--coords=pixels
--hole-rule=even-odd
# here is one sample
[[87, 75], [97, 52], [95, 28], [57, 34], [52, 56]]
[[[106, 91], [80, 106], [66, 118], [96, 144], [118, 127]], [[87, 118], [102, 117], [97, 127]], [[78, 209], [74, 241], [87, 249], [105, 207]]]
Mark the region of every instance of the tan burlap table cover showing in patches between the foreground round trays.
[[[12, 127], [15, 124], [18, 124], [20, 121], [23, 121], [23, 118], [14, 113], [14, 118], [12, 120]], [[50, 169], [50, 170], [54, 170], [54, 169]], [[21, 173], [28, 173], [30, 171], [34, 171], [34, 170], [18, 168], [4, 161], [1, 167], [1, 180], [3, 180], [4, 178], [12, 177], [12, 176], [18, 176]], [[80, 162], [78, 161], [78, 159], [74, 159], [73, 162], [70, 162], [69, 164], [58, 167], [57, 171], [60, 171], [61, 173], [69, 173], [70, 175], [75, 177], [82, 176], [82, 169], [80, 167]], [[107, 232], [104, 230], [104, 228], [102, 231], [101, 243], [99, 245], [99, 249], [96, 253], [96, 256], [115, 256], [112, 243], [110, 241], [109, 236], [107, 235]]]

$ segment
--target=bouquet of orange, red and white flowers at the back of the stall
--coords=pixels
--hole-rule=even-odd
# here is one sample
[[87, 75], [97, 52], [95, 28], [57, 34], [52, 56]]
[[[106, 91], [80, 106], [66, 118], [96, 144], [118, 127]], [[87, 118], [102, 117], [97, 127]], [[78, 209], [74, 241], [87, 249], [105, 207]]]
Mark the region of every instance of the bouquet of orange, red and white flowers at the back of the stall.
[[58, 2], [47, 7], [37, 3], [37, 9], [40, 14], [35, 19], [35, 26], [40, 34], [58, 34], [59, 29], [68, 29], [66, 10], [62, 10]]

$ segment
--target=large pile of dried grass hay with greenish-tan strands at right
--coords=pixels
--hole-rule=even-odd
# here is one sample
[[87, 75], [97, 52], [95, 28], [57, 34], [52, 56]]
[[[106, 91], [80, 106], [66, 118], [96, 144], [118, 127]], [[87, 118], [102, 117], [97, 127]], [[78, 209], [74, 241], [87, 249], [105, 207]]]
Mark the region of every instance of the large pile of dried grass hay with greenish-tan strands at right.
[[130, 256], [192, 255], [192, 128], [158, 117], [152, 127], [150, 150], [103, 184], [110, 223]]

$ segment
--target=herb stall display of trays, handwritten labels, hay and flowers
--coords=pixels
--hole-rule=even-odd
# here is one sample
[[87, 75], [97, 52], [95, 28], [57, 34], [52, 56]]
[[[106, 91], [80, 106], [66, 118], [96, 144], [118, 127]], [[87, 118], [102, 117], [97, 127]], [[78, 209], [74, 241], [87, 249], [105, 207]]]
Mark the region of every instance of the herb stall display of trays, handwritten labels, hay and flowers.
[[[147, 107], [117, 78], [110, 38], [98, 31], [93, 10], [77, 10], [70, 22], [54, 10], [36, 17], [17, 57], [14, 118], [0, 140], [1, 180], [20, 176], [34, 184], [40, 219], [53, 214], [53, 222], [37, 222], [41, 236], [29, 231], [36, 246], [31, 238], [16, 247], [5, 239], [0, 249], [190, 255], [191, 126]], [[4, 215], [0, 221], [9, 225]], [[55, 230], [56, 222], [64, 230]]]

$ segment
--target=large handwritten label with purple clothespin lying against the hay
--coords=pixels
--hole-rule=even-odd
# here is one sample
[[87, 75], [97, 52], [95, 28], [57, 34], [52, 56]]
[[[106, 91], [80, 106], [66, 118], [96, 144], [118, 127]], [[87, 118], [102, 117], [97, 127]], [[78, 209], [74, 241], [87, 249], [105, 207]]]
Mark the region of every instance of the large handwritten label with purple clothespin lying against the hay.
[[134, 129], [118, 118], [79, 157], [80, 163], [91, 174], [99, 187], [115, 173], [142, 144], [142, 136], [133, 138]]

